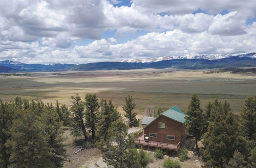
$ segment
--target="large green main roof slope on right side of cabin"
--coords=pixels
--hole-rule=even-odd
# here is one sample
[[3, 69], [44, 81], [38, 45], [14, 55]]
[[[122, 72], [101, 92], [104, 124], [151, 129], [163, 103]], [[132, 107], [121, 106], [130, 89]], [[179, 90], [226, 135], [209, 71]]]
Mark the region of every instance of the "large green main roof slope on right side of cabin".
[[185, 123], [185, 114], [177, 107], [174, 106], [162, 113], [161, 115], [166, 116], [170, 119], [176, 120], [181, 123]]

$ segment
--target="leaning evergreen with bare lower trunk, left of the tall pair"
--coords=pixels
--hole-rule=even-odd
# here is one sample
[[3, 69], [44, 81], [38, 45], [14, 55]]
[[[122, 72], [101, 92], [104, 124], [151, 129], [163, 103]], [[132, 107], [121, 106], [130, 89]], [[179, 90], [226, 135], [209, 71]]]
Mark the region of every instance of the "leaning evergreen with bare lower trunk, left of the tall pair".
[[84, 139], [87, 141], [87, 131], [86, 126], [84, 125], [83, 117], [84, 117], [84, 102], [81, 100], [80, 96], [76, 94], [72, 96], [72, 106], [70, 110], [73, 113], [72, 118], [72, 134], [80, 135], [83, 134]]

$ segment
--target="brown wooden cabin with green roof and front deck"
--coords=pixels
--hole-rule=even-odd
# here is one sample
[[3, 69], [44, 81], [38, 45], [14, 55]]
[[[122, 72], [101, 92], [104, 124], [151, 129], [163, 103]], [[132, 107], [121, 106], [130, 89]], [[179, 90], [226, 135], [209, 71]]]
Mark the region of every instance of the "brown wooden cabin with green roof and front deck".
[[158, 118], [143, 117], [143, 130], [135, 143], [140, 146], [178, 151], [186, 140], [185, 114], [177, 106], [162, 113]]

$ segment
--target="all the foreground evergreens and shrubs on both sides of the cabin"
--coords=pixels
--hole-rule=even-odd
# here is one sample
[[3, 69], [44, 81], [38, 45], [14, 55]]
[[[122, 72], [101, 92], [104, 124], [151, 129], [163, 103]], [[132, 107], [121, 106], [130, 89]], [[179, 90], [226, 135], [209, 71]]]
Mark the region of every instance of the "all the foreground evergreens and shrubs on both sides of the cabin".
[[[62, 167], [66, 159], [63, 128], [74, 136], [82, 135], [83, 149], [91, 144], [102, 151], [103, 160], [112, 167], [146, 167], [152, 156], [135, 148], [136, 134], [129, 127], [139, 126], [135, 101], [124, 100], [124, 117], [111, 100], [96, 94], [71, 97], [67, 107], [56, 101], [44, 103], [16, 97], [11, 102], [0, 101], [0, 165], [1, 167]], [[148, 106], [145, 113], [158, 117], [163, 110]], [[239, 116], [231, 113], [227, 101], [216, 99], [205, 109], [197, 94], [192, 95], [186, 113], [187, 133], [194, 135], [204, 167], [255, 167], [256, 163], [256, 97], [248, 97]], [[159, 151], [161, 154], [161, 151]], [[162, 158], [162, 154], [161, 157]], [[187, 151], [183, 149], [180, 160]], [[164, 167], [179, 162], [165, 159]]]

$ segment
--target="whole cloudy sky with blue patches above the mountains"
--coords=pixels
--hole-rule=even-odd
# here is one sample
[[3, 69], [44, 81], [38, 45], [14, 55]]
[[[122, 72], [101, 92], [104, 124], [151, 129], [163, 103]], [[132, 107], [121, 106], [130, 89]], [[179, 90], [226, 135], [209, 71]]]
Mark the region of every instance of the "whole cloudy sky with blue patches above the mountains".
[[[29, 5], [27, 5], [29, 4]], [[255, 52], [256, 1], [0, 1], [0, 60], [90, 63]]]

